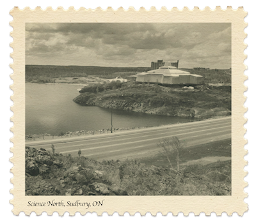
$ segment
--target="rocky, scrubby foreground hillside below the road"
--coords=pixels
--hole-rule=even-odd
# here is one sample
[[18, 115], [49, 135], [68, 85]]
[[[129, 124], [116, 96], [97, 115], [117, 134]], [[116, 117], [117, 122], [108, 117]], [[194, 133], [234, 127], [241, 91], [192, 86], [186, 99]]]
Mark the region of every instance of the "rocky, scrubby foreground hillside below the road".
[[[220, 149], [221, 150], [221, 149]], [[26, 147], [26, 195], [230, 195], [231, 161], [170, 167]]]

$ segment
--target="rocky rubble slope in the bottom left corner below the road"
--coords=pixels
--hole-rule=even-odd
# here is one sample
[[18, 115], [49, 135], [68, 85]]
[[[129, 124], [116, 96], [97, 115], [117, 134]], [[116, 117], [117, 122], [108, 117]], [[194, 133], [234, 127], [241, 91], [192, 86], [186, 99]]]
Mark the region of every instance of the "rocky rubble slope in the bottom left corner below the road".
[[[60, 160], [65, 160], [61, 162]], [[127, 195], [121, 188], [111, 189], [104, 172], [86, 166], [86, 158], [68, 163], [67, 156], [45, 149], [26, 147], [27, 195]]]

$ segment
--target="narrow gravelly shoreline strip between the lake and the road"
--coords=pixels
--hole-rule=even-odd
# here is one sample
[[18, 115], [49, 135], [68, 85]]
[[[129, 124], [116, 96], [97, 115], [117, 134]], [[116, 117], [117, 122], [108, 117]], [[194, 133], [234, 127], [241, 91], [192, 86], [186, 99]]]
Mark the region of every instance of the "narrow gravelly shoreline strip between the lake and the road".
[[[159, 126], [141, 126], [141, 127], [132, 127], [132, 128], [113, 128], [113, 133], [119, 133], [122, 131], [132, 131], [132, 130], [141, 130], [141, 129], [150, 129], [150, 128], [168, 128], [170, 126], [177, 126], [177, 125], [186, 125], [194, 122], [204, 122], [204, 121], [210, 121], [210, 120], [215, 120], [215, 119], [225, 119], [228, 117], [232, 116], [220, 116], [220, 117], [211, 117], [208, 119], [202, 119], [200, 121], [191, 121], [191, 122], [184, 122], [184, 123], [175, 123], [175, 124], [162, 124]], [[95, 131], [84, 131], [84, 130], [79, 130], [79, 131], [67, 131], [64, 135], [58, 136], [58, 135], [50, 135], [50, 134], [29, 134], [26, 135], [25, 142], [36, 142], [38, 140], [61, 140], [65, 138], [79, 138], [79, 137], [85, 137], [85, 136], [92, 136], [92, 135], [108, 135], [111, 134], [111, 129], [102, 129], [102, 130], [95, 130]]]

